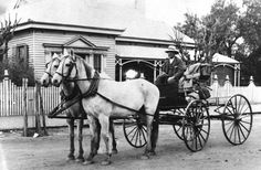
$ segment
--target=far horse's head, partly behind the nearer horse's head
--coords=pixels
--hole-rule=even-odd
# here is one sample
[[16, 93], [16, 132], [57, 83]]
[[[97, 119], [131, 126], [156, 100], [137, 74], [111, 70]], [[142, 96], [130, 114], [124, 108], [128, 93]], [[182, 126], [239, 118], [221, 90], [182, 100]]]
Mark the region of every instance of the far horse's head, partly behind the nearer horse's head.
[[49, 86], [49, 84], [51, 84], [51, 78], [53, 74], [56, 72], [60, 61], [61, 61], [60, 56], [56, 53], [54, 53], [52, 60], [45, 64], [45, 72], [40, 79], [42, 86], [46, 87]]

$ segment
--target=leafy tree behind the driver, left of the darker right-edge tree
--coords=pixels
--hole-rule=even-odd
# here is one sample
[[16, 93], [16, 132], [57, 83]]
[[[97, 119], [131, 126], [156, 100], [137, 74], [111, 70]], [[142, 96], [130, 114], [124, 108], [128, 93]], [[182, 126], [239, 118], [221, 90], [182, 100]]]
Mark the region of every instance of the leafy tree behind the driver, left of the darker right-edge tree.
[[203, 56], [210, 62], [216, 52], [232, 56], [232, 49], [241, 36], [238, 29], [241, 17], [234, 3], [217, 0], [202, 19], [192, 13], [185, 13], [185, 23], [176, 28], [196, 41], [196, 54], [200, 52], [200, 55], [195, 59]]

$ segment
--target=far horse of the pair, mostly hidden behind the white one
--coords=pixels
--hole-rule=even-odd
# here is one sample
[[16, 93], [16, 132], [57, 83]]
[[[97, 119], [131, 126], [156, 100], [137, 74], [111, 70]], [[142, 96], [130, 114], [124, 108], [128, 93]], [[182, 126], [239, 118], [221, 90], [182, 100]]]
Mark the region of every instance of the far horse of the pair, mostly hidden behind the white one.
[[[60, 62], [61, 62], [61, 57], [58, 54], [54, 54], [52, 56], [52, 60], [49, 63], [46, 63], [46, 70], [40, 81], [42, 86], [48, 87], [51, 84], [51, 78], [52, 78], [53, 74], [55, 73]], [[73, 99], [79, 94], [80, 94], [80, 91], [79, 91], [79, 88], [76, 88], [75, 83], [73, 83], [73, 82], [63, 82], [62, 83], [61, 95], [63, 96], [62, 97], [63, 99], [65, 99], [65, 100]], [[66, 103], [65, 103], [65, 105], [66, 105]], [[70, 117], [66, 119], [67, 125], [69, 125], [69, 134], [70, 134], [70, 153], [67, 156], [69, 160], [75, 159], [75, 157], [74, 157], [74, 151], [75, 151], [74, 121], [76, 118], [79, 118], [79, 120], [77, 120], [79, 156], [76, 158], [76, 161], [84, 161], [84, 157], [83, 157], [84, 150], [83, 150], [83, 146], [82, 146], [82, 141], [83, 141], [82, 132], [83, 132], [83, 120], [86, 117], [86, 114], [81, 105], [82, 105], [81, 102], [77, 102], [74, 105], [72, 105], [66, 111], [66, 116]], [[98, 123], [98, 119], [95, 119], [95, 124], [98, 128], [98, 134], [100, 134], [101, 125]], [[111, 130], [113, 134], [113, 152], [116, 153], [117, 149], [116, 149], [116, 141], [115, 141], [115, 137], [114, 137], [113, 124], [112, 124]], [[97, 135], [97, 140], [100, 140], [100, 135]]]

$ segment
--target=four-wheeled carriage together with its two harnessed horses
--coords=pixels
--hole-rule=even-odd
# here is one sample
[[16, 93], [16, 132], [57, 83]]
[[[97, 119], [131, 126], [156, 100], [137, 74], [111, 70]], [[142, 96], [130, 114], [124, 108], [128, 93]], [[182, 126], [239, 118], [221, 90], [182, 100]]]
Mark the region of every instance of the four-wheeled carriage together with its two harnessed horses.
[[[79, 104], [87, 113], [90, 126], [92, 126], [90, 128], [92, 145], [90, 156], [85, 160], [86, 163], [91, 163], [97, 153], [100, 134], [102, 134], [107, 149], [105, 164], [109, 163], [112, 156], [109, 145], [113, 145], [114, 141], [108, 121], [115, 115], [117, 118], [124, 119], [124, 134], [133, 147], [140, 148], [147, 145], [144, 153], [146, 157], [154, 153], [158, 125], [171, 125], [187, 148], [198, 151], [208, 141], [210, 119], [220, 119], [228, 141], [232, 145], [241, 145], [248, 139], [252, 128], [251, 105], [244, 96], [234, 95], [227, 103], [217, 106], [215, 111], [218, 114], [210, 115], [210, 103], [207, 99], [209, 95], [201, 85], [201, 81], [209, 78], [208, 66], [208, 64], [198, 64], [191, 70], [198, 72], [186, 74], [184, 82], [185, 84], [188, 82], [191, 86], [184, 85], [180, 91], [180, 88], [166, 84], [156, 87], [145, 79], [115, 82], [97, 74], [74, 54], [67, 54], [62, 59], [53, 57], [43, 76], [45, 78], [42, 79], [46, 85], [51, 78], [52, 84], [56, 86], [63, 84], [64, 89], [73, 97], [69, 97], [69, 100], [60, 104], [49, 116], [67, 119], [86, 118], [72, 116], [73, 114], [65, 117], [60, 115], [74, 104]], [[198, 93], [198, 97], [191, 95], [195, 92]], [[80, 152], [82, 158], [83, 152]]]

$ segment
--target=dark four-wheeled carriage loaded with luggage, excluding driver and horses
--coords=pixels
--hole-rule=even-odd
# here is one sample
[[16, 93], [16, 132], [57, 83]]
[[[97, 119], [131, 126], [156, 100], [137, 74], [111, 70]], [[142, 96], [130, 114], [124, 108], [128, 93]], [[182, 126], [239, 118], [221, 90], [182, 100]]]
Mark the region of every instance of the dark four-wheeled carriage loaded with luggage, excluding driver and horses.
[[[252, 109], [244, 96], [233, 95], [223, 104], [209, 102], [215, 100], [209, 98], [203, 85], [210, 76], [209, 66], [208, 64], [198, 64], [198, 72], [194, 72], [196, 76], [187, 75], [189, 86], [175, 88], [169, 84], [158, 85], [160, 92], [159, 116], [155, 121], [159, 125], [171, 125], [178, 138], [184, 140], [191, 151], [199, 151], [207, 144], [211, 119], [222, 121], [223, 135], [232, 145], [243, 144], [252, 128]], [[192, 89], [195, 83], [199, 87], [197, 93], [202, 93], [196, 98], [189, 95], [195, 91]], [[209, 113], [210, 107], [215, 113]], [[125, 119], [123, 129], [130, 146], [140, 148], [146, 145], [146, 126], [140, 116]]]

